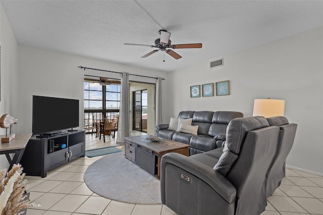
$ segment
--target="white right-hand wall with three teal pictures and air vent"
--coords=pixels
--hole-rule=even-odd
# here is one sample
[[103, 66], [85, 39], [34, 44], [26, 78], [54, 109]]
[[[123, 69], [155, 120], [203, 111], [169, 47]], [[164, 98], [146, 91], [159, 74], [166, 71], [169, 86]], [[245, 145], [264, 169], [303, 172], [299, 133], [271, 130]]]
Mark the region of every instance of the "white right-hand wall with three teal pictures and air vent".
[[[255, 98], [285, 99], [285, 116], [298, 124], [287, 165], [323, 174], [322, 38], [319, 27], [171, 73], [172, 117], [184, 110], [251, 116]], [[209, 62], [221, 57], [224, 66], [209, 69]], [[190, 86], [225, 80], [230, 80], [231, 95], [190, 98]]]

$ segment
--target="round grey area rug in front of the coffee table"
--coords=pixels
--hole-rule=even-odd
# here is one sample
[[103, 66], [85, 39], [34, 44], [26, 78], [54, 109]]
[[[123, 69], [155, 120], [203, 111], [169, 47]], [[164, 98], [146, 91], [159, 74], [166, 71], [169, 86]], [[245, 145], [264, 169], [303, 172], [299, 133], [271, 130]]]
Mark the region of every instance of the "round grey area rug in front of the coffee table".
[[138, 204], [158, 204], [160, 182], [117, 152], [91, 164], [84, 173], [86, 185], [109, 199]]

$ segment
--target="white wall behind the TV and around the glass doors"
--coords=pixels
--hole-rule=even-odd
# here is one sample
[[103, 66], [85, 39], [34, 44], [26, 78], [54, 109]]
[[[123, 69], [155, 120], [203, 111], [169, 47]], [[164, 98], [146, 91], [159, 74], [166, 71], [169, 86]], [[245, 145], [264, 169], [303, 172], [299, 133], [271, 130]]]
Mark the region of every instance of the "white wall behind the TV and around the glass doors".
[[[78, 66], [129, 72], [152, 77], [167, 77], [167, 73], [125, 66], [105, 61], [83, 58], [66, 53], [49, 51], [35, 47], [19, 45], [19, 129], [21, 132], [32, 130], [32, 95], [64, 97], [80, 100], [80, 122], [83, 127], [83, 81], [84, 74], [100, 77], [121, 77], [120, 74], [102, 71], [81, 70]], [[155, 79], [130, 76], [130, 80], [155, 82]], [[164, 100], [167, 95], [167, 81], [163, 82]], [[44, 104], [44, 108], [46, 108]], [[167, 116], [165, 109], [165, 116]], [[44, 116], [45, 117], [45, 116]], [[44, 118], [44, 123], [46, 119]], [[50, 123], [50, 122], [49, 122]]]

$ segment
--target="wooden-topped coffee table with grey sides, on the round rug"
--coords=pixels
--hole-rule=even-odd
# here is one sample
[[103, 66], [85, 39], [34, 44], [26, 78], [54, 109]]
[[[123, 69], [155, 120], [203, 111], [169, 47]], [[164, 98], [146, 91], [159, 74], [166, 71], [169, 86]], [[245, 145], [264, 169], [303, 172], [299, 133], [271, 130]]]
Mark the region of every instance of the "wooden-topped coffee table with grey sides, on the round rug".
[[188, 144], [168, 139], [151, 142], [147, 137], [153, 136], [125, 137], [125, 156], [157, 179], [160, 178], [160, 160], [164, 154], [176, 152], [188, 156]]

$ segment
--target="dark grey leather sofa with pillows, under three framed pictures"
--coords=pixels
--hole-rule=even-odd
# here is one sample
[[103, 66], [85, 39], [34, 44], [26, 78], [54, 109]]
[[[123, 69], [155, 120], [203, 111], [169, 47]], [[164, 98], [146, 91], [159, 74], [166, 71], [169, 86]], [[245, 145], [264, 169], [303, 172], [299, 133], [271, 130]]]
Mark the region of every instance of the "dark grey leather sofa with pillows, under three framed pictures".
[[156, 136], [190, 145], [190, 155], [203, 153], [222, 146], [226, 140], [229, 122], [243, 117], [240, 112], [233, 111], [182, 111], [178, 118], [192, 118], [192, 125], [198, 126], [197, 135], [168, 130], [169, 124], [156, 126]]

